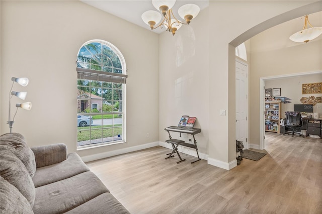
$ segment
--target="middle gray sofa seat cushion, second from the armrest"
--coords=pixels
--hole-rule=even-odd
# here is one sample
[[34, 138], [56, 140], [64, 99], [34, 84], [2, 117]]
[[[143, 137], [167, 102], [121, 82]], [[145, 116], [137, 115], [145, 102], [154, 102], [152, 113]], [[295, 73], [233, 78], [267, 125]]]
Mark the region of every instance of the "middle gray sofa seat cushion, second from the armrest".
[[[35, 213], [62, 213], [109, 192], [91, 171], [36, 188]], [[94, 213], [94, 212], [93, 212]]]

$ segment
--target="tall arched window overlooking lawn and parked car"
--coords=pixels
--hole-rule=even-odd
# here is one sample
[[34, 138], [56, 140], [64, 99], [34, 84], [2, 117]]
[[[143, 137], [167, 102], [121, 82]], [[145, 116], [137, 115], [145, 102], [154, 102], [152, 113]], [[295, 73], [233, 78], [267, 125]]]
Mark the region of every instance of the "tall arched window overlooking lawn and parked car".
[[91, 40], [77, 54], [77, 148], [125, 142], [126, 66], [111, 43]]

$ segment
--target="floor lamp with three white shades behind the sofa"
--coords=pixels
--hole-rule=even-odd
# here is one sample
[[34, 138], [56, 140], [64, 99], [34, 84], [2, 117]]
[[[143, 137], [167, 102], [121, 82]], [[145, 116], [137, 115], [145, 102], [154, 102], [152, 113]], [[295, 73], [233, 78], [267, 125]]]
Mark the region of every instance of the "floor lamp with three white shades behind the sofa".
[[17, 82], [18, 84], [22, 85], [22, 86], [27, 86], [28, 83], [29, 83], [29, 79], [26, 78], [26, 77], [21, 77], [21, 78], [16, 78], [16, 77], [12, 77], [11, 80], [13, 81], [12, 83], [12, 86], [11, 86], [11, 89], [10, 89], [10, 92], [9, 92], [9, 120], [7, 122], [7, 124], [9, 124], [9, 128], [10, 128], [10, 133], [11, 133], [11, 130], [12, 130], [12, 126], [15, 122], [15, 117], [17, 115], [17, 112], [18, 112], [18, 108], [22, 108], [22, 109], [25, 109], [25, 110], [31, 110], [31, 102], [24, 102], [24, 103], [17, 103], [16, 104], [16, 113], [14, 115], [14, 118], [13, 120], [11, 120], [11, 98], [13, 96], [17, 96], [21, 99], [25, 99], [26, 96], [27, 96], [27, 92], [26, 91], [22, 91], [22, 92], [17, 92], [17, 91], [13, 91], [13, 87], [14, 87], [14, 84], [15, 82]]

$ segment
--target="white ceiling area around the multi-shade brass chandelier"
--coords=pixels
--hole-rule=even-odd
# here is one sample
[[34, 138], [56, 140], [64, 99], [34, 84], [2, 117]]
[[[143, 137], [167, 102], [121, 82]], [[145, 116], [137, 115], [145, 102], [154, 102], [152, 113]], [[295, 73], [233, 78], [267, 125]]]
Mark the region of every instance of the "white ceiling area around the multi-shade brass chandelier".
[[[153, 7], [152, 2], [149, 0], [108, 0], [108, 1], [96, 1], [96, 0], [88, 0], [81, 1], [88, 5], [91, 5], [95, 8], [98, 8], [102, 11], [105, 11], [109, 14], [117, 16], [121, 19], [129, 21], [135, 25], [141, 26], [143, 28], [149, 29], [150, 27], [143, 22], [141, 19], [141, 15], [145, 11], [156, 9]], [[181, 19], [178, 15], [178, 9], [186, 4], [195, 4], [198, 5], [200, 10], [203, 10], [209, 6], [209, 0], [197, 0], [197, 1], [187, 1], [187, 0], [177, 0], [175, 6], [173, 7], [173, 13], [177, 19]], [[182, 19], [181, 19], [182, 20]], [[183, 20], [182, 20], [183, 21]], [[153, 30], [155, 33], [162, 33], [165, 29], [157, 28]]]

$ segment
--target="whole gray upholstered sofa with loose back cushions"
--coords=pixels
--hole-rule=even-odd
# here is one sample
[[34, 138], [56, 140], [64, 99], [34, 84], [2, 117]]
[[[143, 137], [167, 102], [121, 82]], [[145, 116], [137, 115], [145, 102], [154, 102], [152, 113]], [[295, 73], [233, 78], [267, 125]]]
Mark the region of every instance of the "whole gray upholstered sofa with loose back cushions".
[[29, 148], [1, 136], [0, 213], [129, 213], [65, 144]]

